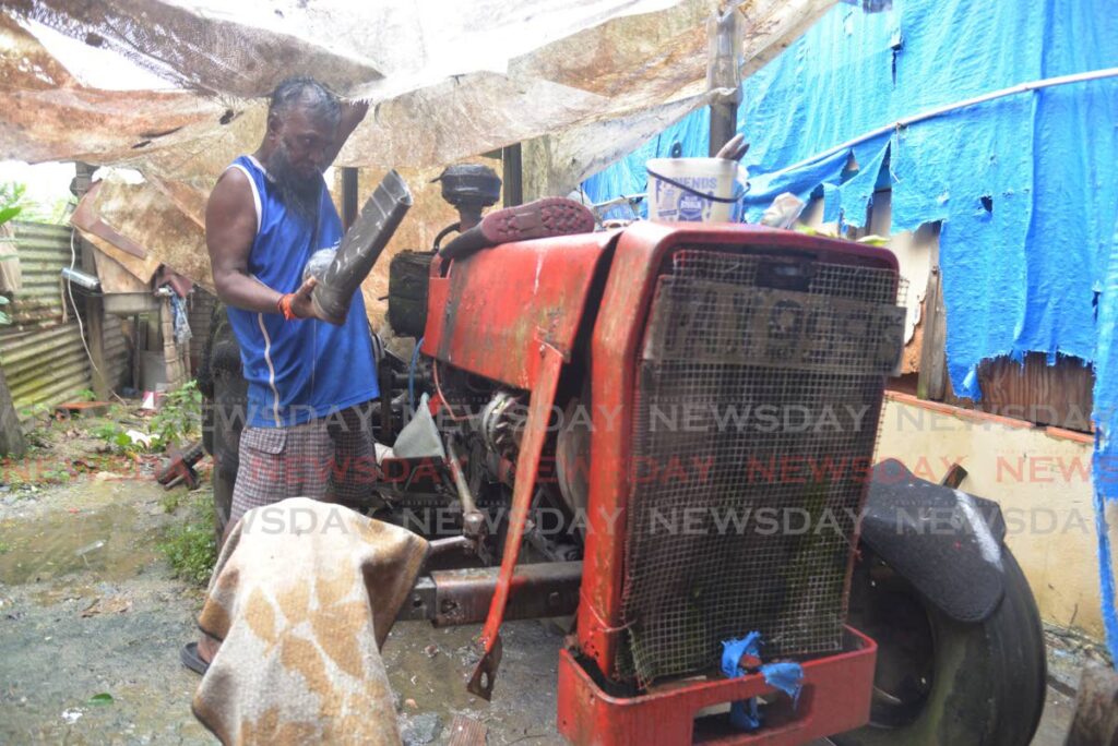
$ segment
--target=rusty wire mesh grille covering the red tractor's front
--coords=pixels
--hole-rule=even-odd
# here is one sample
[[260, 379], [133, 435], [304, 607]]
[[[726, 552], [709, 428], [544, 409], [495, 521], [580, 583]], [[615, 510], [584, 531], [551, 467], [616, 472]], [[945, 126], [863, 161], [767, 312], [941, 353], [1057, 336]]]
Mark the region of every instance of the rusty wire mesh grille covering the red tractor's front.
[[639, 683], [835, 651], [883, 376], [903, 350], [896, 272], [680, 250], [650, 316], [634, 417], [623, 656]]

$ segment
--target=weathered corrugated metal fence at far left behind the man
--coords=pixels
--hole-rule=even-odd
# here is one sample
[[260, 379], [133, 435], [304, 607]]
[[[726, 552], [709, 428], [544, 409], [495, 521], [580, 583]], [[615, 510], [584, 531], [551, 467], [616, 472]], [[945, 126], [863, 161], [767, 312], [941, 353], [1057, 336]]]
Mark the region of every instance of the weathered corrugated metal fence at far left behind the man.
[[[22, 288], [13, 294], [12, 325], [0, 329], [0, 364], [21, 421], [37, 404], [54, 407], [93, 386], [89, 360], [73, 313], [63, 322], [59, 272], [70, 264], [70, 229], [17, 222]], [[80, 300], [78, 300], [80, 306]], [[105, 319], [111, 385], [129, 375], [129, 350], [119, 319]]]

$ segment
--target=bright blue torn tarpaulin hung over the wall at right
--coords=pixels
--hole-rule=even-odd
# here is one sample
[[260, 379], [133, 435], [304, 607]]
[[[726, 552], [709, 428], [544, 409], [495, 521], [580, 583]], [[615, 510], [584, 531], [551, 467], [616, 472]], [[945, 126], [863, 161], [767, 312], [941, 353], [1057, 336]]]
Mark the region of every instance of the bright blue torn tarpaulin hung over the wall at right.
[[[828, 221], [862, 226], [875, 189], [888, 185], [893, 232], [941, 221], [956, 393], [979, 398], [978, 364], [1002, 355], [1064, 354], [1097, 365], [1099, 520], [1105, 500], [1118, 499], [1118, 467], [1100, 479], [1100, 469], [1118, 460], [1110, 437], [1118, 403], [1118, 259], [1110, 260], [1118, 78], [956, 108], [819, 154], [975, 96], [1118, 67], [1114, 10], [1114, 0], [894, 0], [878, 13], [840, 4], [743, 83], [738, 121], [752, 144], [747, 220], [788, 191], [805, 201], [822, 195]], [[587, 195], [597, 202], [644, 191], [650, 157], [705, 155], [708, 117], [695, 112], [590, 178]], [[1100, 554], [1107, 551], [1100, 534]], [[1118, 652], [1109, 557], [1100, 558], [1103, 615]]]

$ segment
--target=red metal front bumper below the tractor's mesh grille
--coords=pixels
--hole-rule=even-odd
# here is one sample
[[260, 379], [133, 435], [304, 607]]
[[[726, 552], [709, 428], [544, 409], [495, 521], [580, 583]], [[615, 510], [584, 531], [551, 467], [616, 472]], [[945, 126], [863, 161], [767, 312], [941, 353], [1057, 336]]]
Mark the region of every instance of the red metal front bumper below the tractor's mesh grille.
[[846, 628], [847, 651], [803, 663], [804, 688], [793, 708], [781, 696], [755, 733], [695, 727], [699, 710], [773, 694], [765, 678], [682, 681], [638, 697], [612, 697], [567, 650], [559, 653], [558, 727], [578, 746], [796, 746], [844, 733], [870, 719], [877, 644]]

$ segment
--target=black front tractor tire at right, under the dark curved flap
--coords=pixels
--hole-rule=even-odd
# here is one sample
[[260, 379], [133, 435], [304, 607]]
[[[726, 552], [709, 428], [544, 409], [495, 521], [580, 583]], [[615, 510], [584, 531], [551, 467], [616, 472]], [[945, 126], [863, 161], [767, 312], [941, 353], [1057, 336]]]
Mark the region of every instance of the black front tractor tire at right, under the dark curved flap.
[[1044, 634], [1032, 592], [1002, 547], [1005, 595], [961, 623], [926, 602], [866, 546], [854, 571], [851, 624], [878, 642], [870, 725], [840, 746], [1027, 746], [1046, 690]]

